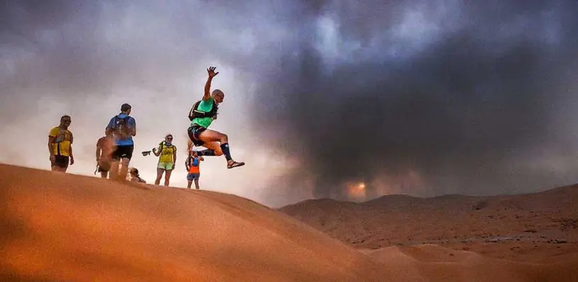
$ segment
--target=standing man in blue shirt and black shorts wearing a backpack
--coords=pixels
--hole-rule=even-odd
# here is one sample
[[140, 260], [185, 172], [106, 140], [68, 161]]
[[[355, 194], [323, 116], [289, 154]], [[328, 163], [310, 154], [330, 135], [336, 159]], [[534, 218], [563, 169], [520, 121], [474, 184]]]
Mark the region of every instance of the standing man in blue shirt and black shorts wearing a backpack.
[[120, 114], [111, 118], [106, 126], [106, 136], [114, 142], [110, 175], [112, 180], [126, 180], [128, 175], [128, 165], [135, 149], [132, 137], [137, 135], [137, 122], [129, 115], [131, 110], [130, 105], [123, 104], [120, 106]]

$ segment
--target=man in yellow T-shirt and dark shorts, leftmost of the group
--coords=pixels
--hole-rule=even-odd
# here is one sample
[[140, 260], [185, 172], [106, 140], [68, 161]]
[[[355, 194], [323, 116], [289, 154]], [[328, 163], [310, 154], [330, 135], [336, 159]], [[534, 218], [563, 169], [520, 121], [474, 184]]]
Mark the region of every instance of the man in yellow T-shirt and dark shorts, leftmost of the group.
[[72, 155], [72, 132], [68, 127], [72, 119], [69, 115], [60, 117], [60, 125], [52, 127], [48, 133], [48, 151], [50, 152], [50, 170], [67, 172], [68, 165], [74, 164]]

